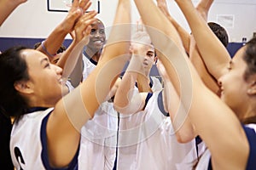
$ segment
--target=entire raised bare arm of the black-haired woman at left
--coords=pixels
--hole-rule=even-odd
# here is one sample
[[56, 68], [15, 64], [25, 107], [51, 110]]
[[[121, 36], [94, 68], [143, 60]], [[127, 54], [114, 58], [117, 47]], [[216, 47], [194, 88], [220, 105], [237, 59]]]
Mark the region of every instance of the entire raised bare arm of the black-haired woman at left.
[[[49, 157], [58, 158], [55, 165], [64, 165], [78, 149], [80, 128], [95, 113], [106, 98], [113, 81], [122, 71], [128, 54], [130, 40], [129, 0], [119, 0], [113, 28], [102, 59], [84, 82], [67, 94], [56, 105], [47, 124]], [[61, 134], [61, 135], [59, 135]], [[67, 147], [68, 146], [68, 147]], [[63, 154], [63, 152], [67, 152]]]

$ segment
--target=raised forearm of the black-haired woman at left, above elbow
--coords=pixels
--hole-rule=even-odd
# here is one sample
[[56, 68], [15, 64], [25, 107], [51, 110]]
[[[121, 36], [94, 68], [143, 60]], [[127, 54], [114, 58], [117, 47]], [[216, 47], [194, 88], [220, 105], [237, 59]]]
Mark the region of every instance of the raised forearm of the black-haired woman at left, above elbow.
[[[108, 37], [108, 42], [102, 50], [102, 59], [81, 84], [84, 106], [93, 115], [99, 104], [108, 96], [113, 82], [119, 77], [127, 59], [129, 59], [129, 47], [131, 26], [125, 25], [131, 22], [130, 0], [119, 0], [116, 14], [113, 20], [113, 28]], [[90, 94], [90, 98], [88, 95]]]

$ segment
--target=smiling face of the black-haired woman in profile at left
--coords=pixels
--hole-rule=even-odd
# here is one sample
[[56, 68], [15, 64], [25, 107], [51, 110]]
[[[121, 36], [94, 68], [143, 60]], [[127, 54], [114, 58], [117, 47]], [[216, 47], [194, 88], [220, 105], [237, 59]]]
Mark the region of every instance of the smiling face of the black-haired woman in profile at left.
[[46, 55], [33, 49], [26, 49], [21, 52], [26, 59], [28, 84], [32, 88], [32, 94], [36, 97], [35, 106], [54, 106], [61, 99], [63, 83], [61, 79], [62, 69], [49, 63]]

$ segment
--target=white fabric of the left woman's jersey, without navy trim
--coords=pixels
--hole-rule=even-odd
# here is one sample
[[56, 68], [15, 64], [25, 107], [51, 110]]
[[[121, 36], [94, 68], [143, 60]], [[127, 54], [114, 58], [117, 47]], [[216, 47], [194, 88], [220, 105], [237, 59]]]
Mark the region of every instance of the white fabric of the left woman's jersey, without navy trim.
[[12, 161], [17, 170], [45, 169], [41, 154], [43, 150], [41, 140], [42, 121], [53, 108], [45, 111], [35, 111], [21, 117], [15, 122], [10, 139]]

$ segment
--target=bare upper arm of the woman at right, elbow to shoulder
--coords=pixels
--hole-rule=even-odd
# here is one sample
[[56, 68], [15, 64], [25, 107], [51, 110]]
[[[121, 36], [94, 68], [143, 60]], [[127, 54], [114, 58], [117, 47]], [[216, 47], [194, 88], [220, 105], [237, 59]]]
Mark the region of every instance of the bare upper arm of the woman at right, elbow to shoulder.
[[213, 167], [244, 169], [249, 148], [241, 122], [234, 112], [207, 88], [199, 86], [196, 93], [189, 117], [196, 132], [211, 151]]

